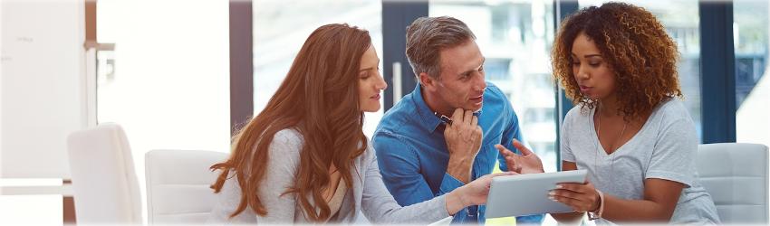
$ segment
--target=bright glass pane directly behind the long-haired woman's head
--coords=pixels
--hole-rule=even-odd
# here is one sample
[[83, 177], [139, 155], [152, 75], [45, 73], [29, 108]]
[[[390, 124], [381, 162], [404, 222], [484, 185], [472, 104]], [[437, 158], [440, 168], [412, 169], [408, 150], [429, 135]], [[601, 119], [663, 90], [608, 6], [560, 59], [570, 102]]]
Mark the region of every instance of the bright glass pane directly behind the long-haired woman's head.
[[[304, 41], [323, 24], [346, 23], [368, 30], [381, 63], [380, 1], [254, 0], [253, 4], [255, 115], [265, 108], [281, 85]], [[323, 10], [318, 10], [320, 8]], [[381, 101], [380, 106], [383, 106]], [[364, 134], [371, 137], [380, 118], [381, 108], [380, 112], [366, 114]]]

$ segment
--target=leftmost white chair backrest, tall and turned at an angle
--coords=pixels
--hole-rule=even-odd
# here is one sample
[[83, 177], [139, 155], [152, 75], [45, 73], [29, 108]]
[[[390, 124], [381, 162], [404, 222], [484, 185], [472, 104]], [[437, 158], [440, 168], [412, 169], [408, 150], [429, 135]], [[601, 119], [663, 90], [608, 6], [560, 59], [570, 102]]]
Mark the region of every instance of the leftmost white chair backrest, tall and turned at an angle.
[[141, 198], [128, 139], [116, 124], [67, 138], [76, 221], [140, 224]]

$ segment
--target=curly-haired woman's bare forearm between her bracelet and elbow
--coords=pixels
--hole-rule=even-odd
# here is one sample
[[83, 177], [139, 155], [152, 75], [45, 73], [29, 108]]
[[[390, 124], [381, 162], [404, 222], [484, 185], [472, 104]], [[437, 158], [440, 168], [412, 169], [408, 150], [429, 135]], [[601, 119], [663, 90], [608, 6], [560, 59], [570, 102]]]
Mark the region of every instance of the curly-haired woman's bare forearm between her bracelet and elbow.
[[[649, 200], [623, 200], [604, 196], [602, 218], [614, 222], [669, 222], [673, 208], [668, 210], [662, 204]], [[675, 206], [676, 207], [676, 206]]]

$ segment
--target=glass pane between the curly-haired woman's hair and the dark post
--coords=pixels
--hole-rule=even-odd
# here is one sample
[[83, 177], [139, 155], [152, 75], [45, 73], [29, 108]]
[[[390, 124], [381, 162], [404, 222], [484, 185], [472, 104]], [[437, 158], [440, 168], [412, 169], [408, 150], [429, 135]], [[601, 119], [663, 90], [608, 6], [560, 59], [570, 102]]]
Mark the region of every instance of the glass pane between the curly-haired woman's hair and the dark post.
[[[580, 7], [602, 5], [604, 0], [580, 0]], [[702, 124], [700, 113], [700, 28], [698, 0], [670, 1], [620, 1], [644, 7], [655, 14], [666, 27], [669, 36], [677, 42], [679, 48], [679, 85], [684, 94], [684, 104], [695, 121], [698, 140], [701, 137]]]

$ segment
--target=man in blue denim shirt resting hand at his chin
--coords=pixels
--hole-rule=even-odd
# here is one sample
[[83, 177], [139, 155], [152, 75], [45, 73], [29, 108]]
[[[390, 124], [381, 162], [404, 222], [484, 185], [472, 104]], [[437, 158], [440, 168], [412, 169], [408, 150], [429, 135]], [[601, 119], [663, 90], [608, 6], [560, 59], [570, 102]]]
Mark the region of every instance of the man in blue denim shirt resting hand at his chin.
[[[521, 140], [505, 94], [484, 80], [476, 37], [452, 17], [421, 17], [407, 30], [407, 57], [419, 85], [380, 120], [372, 143], [382, 180], [396, 201], [410, 205], [507, 171], [496, 144]], [[457, 212], [453, 222], [485, 221], [485, 206]], [[540, 223], [543, 215], [516, 218]]]

